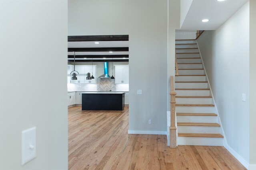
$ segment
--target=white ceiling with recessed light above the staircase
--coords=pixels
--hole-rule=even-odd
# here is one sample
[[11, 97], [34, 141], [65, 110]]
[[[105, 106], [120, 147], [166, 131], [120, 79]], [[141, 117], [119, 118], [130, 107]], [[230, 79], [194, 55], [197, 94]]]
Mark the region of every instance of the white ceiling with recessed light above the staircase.
[[[215, 30], [248, 0], [193, 0], [181, 30]], [[183, 14], [184, 15], [184, 14]], [[208, 19], [208, 22], [202, 22]]]

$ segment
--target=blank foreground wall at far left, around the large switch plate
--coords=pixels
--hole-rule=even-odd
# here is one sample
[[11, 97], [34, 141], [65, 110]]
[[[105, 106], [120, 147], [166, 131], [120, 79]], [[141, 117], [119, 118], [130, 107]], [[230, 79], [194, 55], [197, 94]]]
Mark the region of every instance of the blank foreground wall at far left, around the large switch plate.
[[[0, 1], [0, 15], [0, 169], [68, 169], [67, 1]], [[34, 126], [36, 158], [21, 166]]]

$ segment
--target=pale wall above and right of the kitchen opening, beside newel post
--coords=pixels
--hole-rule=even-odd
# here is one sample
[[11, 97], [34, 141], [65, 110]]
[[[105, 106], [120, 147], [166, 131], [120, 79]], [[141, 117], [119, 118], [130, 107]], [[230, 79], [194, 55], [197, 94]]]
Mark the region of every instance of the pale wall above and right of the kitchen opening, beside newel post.
[[167, 8], [167, 0], [68, 2], [68, 35], [129, 35], [130, 131], [166, 132]]

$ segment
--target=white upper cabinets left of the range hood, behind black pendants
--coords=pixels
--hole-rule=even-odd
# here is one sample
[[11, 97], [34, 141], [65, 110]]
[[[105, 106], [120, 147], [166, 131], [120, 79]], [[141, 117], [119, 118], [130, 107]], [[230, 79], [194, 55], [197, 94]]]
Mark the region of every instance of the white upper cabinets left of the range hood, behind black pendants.
[[[90, 65], [76, 65], [75, 69], [79, 74], [87, 74], [88, 72], [90, 72], [90, 76], [93, 75], [94, 78], [97, 78], [96, 65], [93, 65], [93, 66], [90, 66]], [[74, 70], [74, 66], [72, 67], [72, 70]], [[70, 72], [68, 71], [68, 74], [70, 74]], [[78, 74], [77, 72], [76, 72], [76, 74]], [[81, 83], [96, 83], [97, 82], [96, 79], [86, 80], [86, 76], [79, 76], [79, 74], [76, 76], [77, 80], [73, 83], [81, 84]], [[68, 83], [72, 83], [71, 77], [72, 76], [68, 76]]]

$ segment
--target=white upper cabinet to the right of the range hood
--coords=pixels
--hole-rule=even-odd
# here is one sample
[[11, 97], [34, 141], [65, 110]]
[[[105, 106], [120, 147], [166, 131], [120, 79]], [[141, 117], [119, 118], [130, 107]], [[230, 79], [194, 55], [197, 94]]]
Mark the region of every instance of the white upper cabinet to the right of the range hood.
[[116, 83], [129, 84], [129, 65], [115, 65]]

